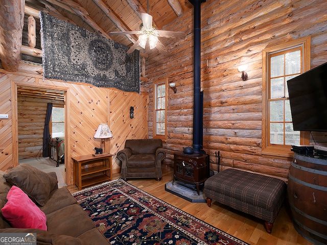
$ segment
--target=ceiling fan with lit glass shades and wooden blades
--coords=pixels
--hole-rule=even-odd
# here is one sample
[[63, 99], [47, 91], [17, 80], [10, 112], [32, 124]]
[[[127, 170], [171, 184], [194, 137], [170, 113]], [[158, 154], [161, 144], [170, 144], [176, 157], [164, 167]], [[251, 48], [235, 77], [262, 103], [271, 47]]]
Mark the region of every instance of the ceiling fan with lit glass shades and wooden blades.
[[167, 37], [167, 38], [185, 38], [185, 33], [183, 32], [174, 32], [174, 31], [164, 31], [164, 30], [156, 30], [155, 25], [152, 24], [152, 16], [149, 15], [149, 0], [147, 1], [147, 12], [142, 13], [142, 24], [141, 30], [139, 31], [128, 31], [128, 32], [110, 32], [109, 35], [122, 35], [122, 34], [135, 34], [139, 35], [136, 42], [129, 48], [126, 52], [127, 54], [131, 54], [136, 47], [139, 45], [143, 48], [146, 47], [146, 44], [149, 44], [150, 50], [156, 47], [162, 54], [168, 54], [166, 47], [164, 44], [160, 42], [158, 37]]

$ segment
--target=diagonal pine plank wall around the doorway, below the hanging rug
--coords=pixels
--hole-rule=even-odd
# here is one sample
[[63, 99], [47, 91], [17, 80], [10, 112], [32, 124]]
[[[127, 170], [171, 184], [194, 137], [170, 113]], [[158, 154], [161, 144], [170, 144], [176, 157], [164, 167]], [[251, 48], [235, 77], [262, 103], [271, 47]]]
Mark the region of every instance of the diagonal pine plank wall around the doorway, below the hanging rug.
[[[71, 157], [94, 153], [100, 140], [93, 136], [99, 124], [108, 123], [113, 137], [106, 140], [106, 150], [116, 154], [124, 148], [125, 140], [147, 138], [148, 94], [123, 92], [116, 89], [98, 88], [86, 84], [42, 80], [34, 65], [20, 64], [18, 72], [0, 69], [0, 111], [8, 119], [0, 119], [0, 169], [8, 170], [18, 164], [17, 96], [15, 85], [48, 87], [66, 91], [66, 183], [73, 184], [73, 161]], [[129, 108], [134, 107], [134, 118], [129, 117]], [[16, 109], [17, 110], [17, 109]], [[17, 139], [18, 140], [18, 139]], [[14, 147], [17, 144], [17, 147]], [[16, 149], [16, 152], [15, 152]], [[120, 162], [113, 157], [113, 172], [120, 171]]]

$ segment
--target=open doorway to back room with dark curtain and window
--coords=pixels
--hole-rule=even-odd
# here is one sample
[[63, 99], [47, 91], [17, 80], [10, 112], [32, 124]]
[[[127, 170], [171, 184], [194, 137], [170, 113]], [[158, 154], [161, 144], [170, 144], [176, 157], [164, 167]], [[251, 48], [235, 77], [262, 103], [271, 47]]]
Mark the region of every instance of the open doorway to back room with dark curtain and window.
[[[58, 186], [66, 185], [66, 167], [64, 161], [58, 162], [51, 159], [51, 149], [45, 149], [49, 154], [43, 153], [43, 129], [48, 103], [56, 108], [63, 109], [66, 118], [66, 90], [49, 87], [35, 87], [29, 85], [17, 85], [17, 137], [18, 137], [18, 164], [27, 163], [49, 173], [55, 171], [58, 178]], [[51, 113], [52, 114], [52, 113]], [[55, 117], [55, 138], [61, 133], [61, 139], [66, 138], [66, 119]], [[58, 129], [58, 124], [62, 124]], [[51, 126], [50, 126], [51, 125]], [[49, 124], [52, 134], [52, 123]], [[63, 132], [62, 132], [63, 131]], [[50, 138], [51, 139], [51, 138]], [[49, 144], [48, 144], [49, 145]], [[64, 145], [64, 143], [63, 143]], [[61, 158], [64, 159], [64, 148]], [[58, 167], [57, 167], [58, 165]]]

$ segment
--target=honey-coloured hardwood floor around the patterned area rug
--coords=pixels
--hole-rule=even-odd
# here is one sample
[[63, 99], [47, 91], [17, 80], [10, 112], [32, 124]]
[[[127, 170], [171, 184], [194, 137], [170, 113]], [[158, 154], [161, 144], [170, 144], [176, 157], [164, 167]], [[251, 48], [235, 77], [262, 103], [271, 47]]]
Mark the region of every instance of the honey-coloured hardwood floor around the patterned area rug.
[[[163, 166], [162, 174], [161, 181], [156, 181], [155, 179], [131, 179], [128, 183], [249, 244], [313, 244], [295, 231], [287, 204], [283, 205], [279, 211], [272, 232], [268, 234], [264, 228], [263, 221], [251, 215], [217, 202], [213, 202], [210, 208], [206, 203], [190, 203], [165, 191], [165, 184], [173, 179], [173, 170], [169, 166], [166, 166], [166, 168]], [[118, 179], [119, 177], [119, 174], [113, 175], [113, 179]], [[64, 188], [67, 188], [71, 193], [78, 191], [76, 186]]]

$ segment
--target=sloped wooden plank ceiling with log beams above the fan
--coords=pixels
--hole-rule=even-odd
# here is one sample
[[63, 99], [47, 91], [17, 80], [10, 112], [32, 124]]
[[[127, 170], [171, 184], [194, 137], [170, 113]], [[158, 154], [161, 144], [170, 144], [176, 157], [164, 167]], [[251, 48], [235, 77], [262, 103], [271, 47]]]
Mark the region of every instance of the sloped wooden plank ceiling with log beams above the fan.
[[26, 0], [25, 4], [127, 46], [135, 43], [136, 35], [108, 33], [139, 31], [141, 13], [147, 12], [158, 30], [166, 30], [168, 23], [193, 7], [189, 0]]

